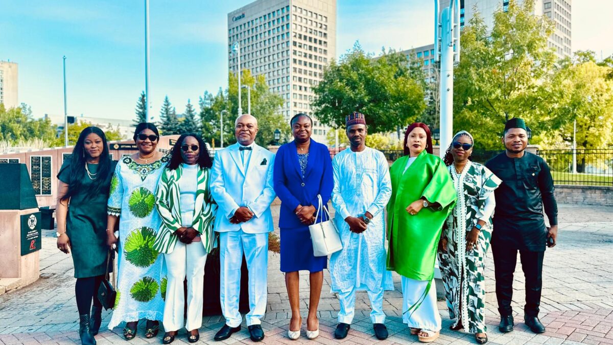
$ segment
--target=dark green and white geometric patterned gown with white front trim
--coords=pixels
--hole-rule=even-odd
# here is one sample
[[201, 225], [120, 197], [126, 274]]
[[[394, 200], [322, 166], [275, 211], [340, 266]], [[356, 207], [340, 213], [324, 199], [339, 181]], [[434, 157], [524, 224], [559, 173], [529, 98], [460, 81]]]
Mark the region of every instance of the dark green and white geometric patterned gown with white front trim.
[[492, 217], [485, 222], [477, 245], [470, 251], [466, 251], [466, 235], [484, 217], [485, 200], [502, 181], [485, 166], [473, 162], [469, 162], [461, 174], [451, 165], [449, 174], [458, 199], [443, 230], [447, 251], [438, 254], [449, 317], [455, 319], [454, 327], [461, 319], [470, 333], [485, 333], [484, 269], [485, 254], [492, 238]]

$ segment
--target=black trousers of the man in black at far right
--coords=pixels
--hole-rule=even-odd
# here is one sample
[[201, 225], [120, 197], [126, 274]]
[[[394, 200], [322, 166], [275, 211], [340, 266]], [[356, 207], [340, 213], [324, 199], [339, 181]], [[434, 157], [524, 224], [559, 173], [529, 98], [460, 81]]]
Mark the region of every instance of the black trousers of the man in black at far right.
[[[513, 274], [517, 262], [517, 249], [492, 245], [494, 273], [496, 277], [496, 298], [500, 316], [512, 315]], [[528, 252], [519, 250], [519, 258], [526, 281], [526, 316], [538, 316], [541, 304], [541, 287], [543, 286], [543, 257], [545, 252]]]

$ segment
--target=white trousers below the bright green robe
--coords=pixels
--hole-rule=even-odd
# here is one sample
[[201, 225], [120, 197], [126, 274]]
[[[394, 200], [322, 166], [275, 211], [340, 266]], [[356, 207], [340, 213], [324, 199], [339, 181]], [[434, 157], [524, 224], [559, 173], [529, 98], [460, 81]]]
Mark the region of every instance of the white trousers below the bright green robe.
[[[430, 291], [424, 298], [425, 288], [428, 281], [416, 281], [415, 279], [400, 276], [402, 283], [402, 321], [411, 328], [420, 328], [428, 331], [441, 330], [441, 314], [436, 306], [436, 284], [432, 279]], [[407, 311], [416, 303], [419, 308]]]

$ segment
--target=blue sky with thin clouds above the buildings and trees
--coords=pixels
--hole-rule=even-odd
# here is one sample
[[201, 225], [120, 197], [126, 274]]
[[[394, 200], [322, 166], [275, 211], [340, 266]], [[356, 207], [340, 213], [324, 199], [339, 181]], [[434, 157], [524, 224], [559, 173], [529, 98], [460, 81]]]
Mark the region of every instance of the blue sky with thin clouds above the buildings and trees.
[[[249, 0], [150, 0], [151, 114], [165, 95], [183, 112], [227, 83], [226, 15]], [[19, 64], [19, 101], [35, 116], [132, 118], [145, 85], [142, 0], [0, 0], [0, 60]], [[433, 40], [433, 1], [338, 0], [337, 55], [411, 48]], [[592, 12], [598, 8], [597, 12]], [[573, 50], [613, 53], [609, 1], [573, 1]]]

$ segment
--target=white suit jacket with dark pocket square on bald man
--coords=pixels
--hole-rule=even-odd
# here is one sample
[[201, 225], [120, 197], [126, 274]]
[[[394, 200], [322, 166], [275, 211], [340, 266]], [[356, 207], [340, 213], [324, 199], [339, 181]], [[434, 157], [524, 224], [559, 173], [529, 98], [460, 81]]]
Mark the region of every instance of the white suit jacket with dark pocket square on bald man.
[[[270, 204], [276, 196], [272, 179], [275, 154], [254, 144], [245, 171], [238, 147], [237, 143], [217, 151], [213, 160], [211, 194], [218, 204], [215, 231], [273, 231]], [[245, 223], [230, 223], [230, 213], [241, 206], [249, 207], [253, 218]]]

